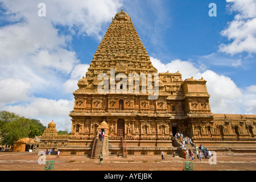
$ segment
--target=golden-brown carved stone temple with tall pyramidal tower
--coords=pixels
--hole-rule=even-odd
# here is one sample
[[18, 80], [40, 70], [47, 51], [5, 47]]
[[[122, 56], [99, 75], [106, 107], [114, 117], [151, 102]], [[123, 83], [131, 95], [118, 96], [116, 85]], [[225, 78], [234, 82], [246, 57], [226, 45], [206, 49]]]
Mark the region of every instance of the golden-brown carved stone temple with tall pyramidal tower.
[[[179, 72], [157, 78], [155, 73], [131, 18], [121, 10], [73, 92], [71, 135], [57, 135], [51, 122], [39, 148], [92, 158], [99, 152], [172, 155], [179, 147], [174, 136], [182, 133], [222, 154], [256, 153], [256, 115], [213, 114], [206, 80], [182, 80]], [[99, 131], [104, 131], [102, 142]]]

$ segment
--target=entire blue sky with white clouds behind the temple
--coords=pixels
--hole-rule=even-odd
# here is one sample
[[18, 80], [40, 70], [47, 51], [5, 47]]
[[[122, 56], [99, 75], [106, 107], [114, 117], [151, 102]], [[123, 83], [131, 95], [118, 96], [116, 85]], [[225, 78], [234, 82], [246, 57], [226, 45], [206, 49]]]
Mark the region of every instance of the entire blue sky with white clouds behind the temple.
[[158, 72], [203, 77], [213, 113], [256, 114], [255, 0], [0, 0], [0, 109], [71, 130], [72, 92], [121, 8]]

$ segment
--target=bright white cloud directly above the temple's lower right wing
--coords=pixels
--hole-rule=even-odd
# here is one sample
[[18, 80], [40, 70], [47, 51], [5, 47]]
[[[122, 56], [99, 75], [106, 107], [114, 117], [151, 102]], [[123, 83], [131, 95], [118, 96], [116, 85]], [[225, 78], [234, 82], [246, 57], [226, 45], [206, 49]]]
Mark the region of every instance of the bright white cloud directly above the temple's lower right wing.
[[201, 77], [207, 81], [207, 90], [210, 94], [210, 107], [216, 114], [245, 114], [256, 113], [256, 86], [252, 85], [246, 90], [238, 88], [231, 78], [204, 69], [197, 69], [190, 61], [173, 60], [163, 64], [154, 57], [150, 58], [158, 73], [169, 71], [174, 73], [179, 70], [183, 80], [193, 76]]

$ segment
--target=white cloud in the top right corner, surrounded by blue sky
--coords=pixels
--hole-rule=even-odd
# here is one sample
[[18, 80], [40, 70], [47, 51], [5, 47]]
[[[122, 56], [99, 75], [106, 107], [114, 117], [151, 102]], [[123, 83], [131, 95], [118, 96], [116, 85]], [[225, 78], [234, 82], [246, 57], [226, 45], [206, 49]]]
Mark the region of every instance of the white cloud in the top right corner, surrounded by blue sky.
[[256, 53], [256, 1], [226, 0], [230, 11], [237, 14], [228, 27], [221, 32], [229, 44], [221, 44], [219, 51], [234, 55], [236, 53]]

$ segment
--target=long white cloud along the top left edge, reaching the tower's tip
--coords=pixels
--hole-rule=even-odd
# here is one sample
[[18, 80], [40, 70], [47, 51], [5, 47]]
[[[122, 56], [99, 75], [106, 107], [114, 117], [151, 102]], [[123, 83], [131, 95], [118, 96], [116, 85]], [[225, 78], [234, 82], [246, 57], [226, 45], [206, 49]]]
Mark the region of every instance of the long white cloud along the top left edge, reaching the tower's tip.
[[[69, 30], [79, 34], [95, 36], [99, 40], [102, 38], [102, 30], [108, 26], [112, 16], [121, 8], [121, 0], [45, 0], [46, 17], [38, 16], [38, 4], [40, 0], [9, 1], [2, 0], [6, 6], [7, 13], [11, 14], [13, 20], [24, 18], [28, 21], [47, 20], [55, 25], [66, 26]], [[15, 14], [15, 15], [14, 15]], [[45, 28], [42, 24], [42, 30]], [[39, 29], [39, 26], [37, 27]], [[105, 33], [105, 32], [104, 32]]]

